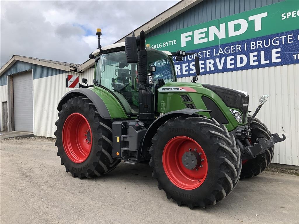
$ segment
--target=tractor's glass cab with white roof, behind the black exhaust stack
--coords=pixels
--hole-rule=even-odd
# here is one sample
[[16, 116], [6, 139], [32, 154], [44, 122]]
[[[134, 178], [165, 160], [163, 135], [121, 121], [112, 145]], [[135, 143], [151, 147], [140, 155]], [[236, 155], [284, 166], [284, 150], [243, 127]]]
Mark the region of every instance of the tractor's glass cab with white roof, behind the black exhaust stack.
[[[168, 82], [176, 82], [175, 69], [171, 53], [158, 51], [150, 47], [147, 50], [147, 69], [155, 67], [153, 73], [154, 94]], [[127, 63], [124, 43], [113, 44], [93, 52], [96, 57], [95, 88], [104, 88], [112, 92], [125, 108], [127, 114], [139, 113], [139, 84], [137, 63]], [[150, 72], [150, 71], [149, 71]], [[156, 98], [156, 97], [155, 97]], [[155, 107], [157, 108], [157, 107]]]

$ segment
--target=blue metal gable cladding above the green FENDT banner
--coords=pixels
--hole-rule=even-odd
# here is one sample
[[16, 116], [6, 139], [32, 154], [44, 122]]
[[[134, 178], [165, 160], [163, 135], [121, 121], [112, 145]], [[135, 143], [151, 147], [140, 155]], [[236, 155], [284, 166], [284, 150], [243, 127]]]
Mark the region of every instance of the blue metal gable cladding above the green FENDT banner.
[[231, 16], [284, 0], [204, 0], [147, 33], [147, 37]]

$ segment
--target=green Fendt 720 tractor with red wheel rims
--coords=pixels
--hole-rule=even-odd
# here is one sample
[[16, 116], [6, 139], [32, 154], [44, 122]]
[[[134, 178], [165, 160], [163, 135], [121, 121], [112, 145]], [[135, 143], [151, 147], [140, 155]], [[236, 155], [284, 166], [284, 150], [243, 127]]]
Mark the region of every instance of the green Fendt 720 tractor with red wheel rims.
[[[168, 199], [190, 208], [214, 205], [239, 179], [263, 172], [274, 144], [271, 134], [252, 116], [246, 92], [208, 84], [176, 82], [173, 56], [145, 46], [145, 33], [124, 43], [101, 47], [91, 86], [71, 90], [58, 104], [55, 145], [61, 165], [73, 177], [92, 178], [112, 171], [121, 160], [149, 161], [158, 188]], [[199, 75], [199, 59], [195, 57]], [[93, 87], [93, 88], [88, 88]]]

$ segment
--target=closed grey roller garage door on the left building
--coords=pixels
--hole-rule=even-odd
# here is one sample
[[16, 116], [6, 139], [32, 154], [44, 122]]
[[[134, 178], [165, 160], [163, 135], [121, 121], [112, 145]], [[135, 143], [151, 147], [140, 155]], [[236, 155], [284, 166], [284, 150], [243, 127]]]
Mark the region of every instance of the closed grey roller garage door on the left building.
[[13, 76], [15, 131], [33, 132], [32, 71]]

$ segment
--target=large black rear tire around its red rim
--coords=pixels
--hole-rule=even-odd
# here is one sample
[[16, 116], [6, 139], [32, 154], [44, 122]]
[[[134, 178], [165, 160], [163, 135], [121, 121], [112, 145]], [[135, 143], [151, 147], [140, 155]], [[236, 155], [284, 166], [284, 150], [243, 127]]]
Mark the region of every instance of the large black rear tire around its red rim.
[[[82, 114], [89, 123], [92, 133], [90, 154], [81, 163], [73, 162], [65, 152], [62, 141], [62, 129], [66, 119], [73, 113]], [[112, 153], [112, 123], [100, 117], [97, 109], [90, 99], [78, 96], [69, 99], [58, 113], [59, 119], [55, 123], [57, 137], [55, 145], [58, 148], [57, 156], [61, 158], [61, 165], [65, 171], [71, 172], [73, 177], [91, 178], [101, 176], [112, 171], [121, 161], [111, 157]]]

